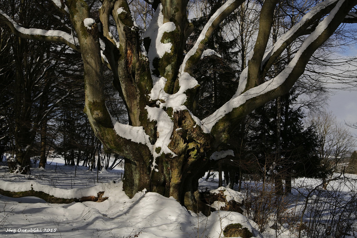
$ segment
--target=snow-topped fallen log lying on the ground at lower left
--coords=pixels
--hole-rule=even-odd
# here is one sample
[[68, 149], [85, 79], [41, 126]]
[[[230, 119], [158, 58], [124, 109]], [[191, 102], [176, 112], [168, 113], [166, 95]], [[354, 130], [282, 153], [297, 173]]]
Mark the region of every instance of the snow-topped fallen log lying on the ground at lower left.
[[105, 186], [100, 184], [91, 188], [61, 189], [35, 181], [26, 182], [0, 182], [0, 194], [12, 198], [38, 197], [48, 203], [71, 202], [103, 202], [108, 197], [103, 197]]

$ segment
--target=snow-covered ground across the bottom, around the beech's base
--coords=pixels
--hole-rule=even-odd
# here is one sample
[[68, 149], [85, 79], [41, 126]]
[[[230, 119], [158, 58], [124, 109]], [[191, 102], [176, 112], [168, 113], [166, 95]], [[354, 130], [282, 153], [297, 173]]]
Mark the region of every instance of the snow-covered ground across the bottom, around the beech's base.
[[[0, 195], [0, 237], [220, 238], [223, 237], [223, 229], [228, 224], [241, 223], [252, 231], [255, 237], [292, 238], [298, 237], [298, 229], [294, 226], [300, 224], [300, 217], [297, 214], [300, 214], [299, 212], [304, 207], [306, 207], [306, 215], [303, 217], [305, 226], [308, 226], [309, 221], [311, 223], [316, 220], [313, 220], [314, 216], [318, 217], [317, 214], [313, 214], [315, 208], [315, 211], [324, 211], [319, 215], [320, 223], [317, 224], [328, 226], [329, 223], [324, 223], [322, 218], [334, 213], [326, 211], [329, 207], [321, 207], [321, 205], [337, 204], [336, 199], [327, 196], [331, 193], [312, 192], [309, 194], [314, 186], [321, 182], [318, 179], [296, 179], [294, 183], [296, 189], [293, 189], [292, 194], [287, 196], [290, 199], [286, 202], [288, 206], [280, 211], [281, 219], [279, 218], [279, 222], [276, 223], [276, 212], [273, 211], [276, 208], [267, 210], [265, 216], [268, 222], [261, 230], [261, 235], [257, 231], [259, 224], [240, 213], [217, 211], [205, 217], [203, 214], [187, 211], [173, 198], [145, 191], [137, 193], [130, 199], [122, 191], [120, 180], [124, 171], [121, 169], [97, 173], [96, 170], [88, 171], [86, 167], [75, 168], [59, 165], [58, 162], [57, 164], [56, 161], [52, 162], [46, 166], [46, 169], [32, 168], [31, 176], [12, 174], [7, 172], [5, 166], [0, 166], [0, 179], [2, 180], [0, 188], [7, 187], [8, 190], [20, 191], [24, 186], [34, 187], [35, 190], [42, 187], [47, 193], [69, 197], [96, 196], [97, 192], [105, 191], [104, 197], [109, 198], [104, 202], [51, 204], [35, 197], [9, 198]], [[349, 176], [357, 178], [357, 176]], [[328, 189], [328, 191], [333, 191], [335, 196], [342, 200], [353, 201], [351, 196], [354, 196], [356, 192], [354, 190], [356, 182], [341, 183], [341, 181], [331, 182], [329, 187], [333, 189]], [[251, 201], [250, 207], [253, 207], [254, 201], [258, 201], [258, 195], [262, 191], [260, 185], [260, 182], [254, 181], [247, 181], [242, 185], [242, 194], [246, 197], [246, 201]], [[208, 182], [204, 179], [200, 180], [202, 190], [217, 187], [216, 176]], [[309, 190], [309, 188], [312, 189]], [[306, 200], [307, 195], [309, 199]], [[264, 200], [269, 199], [266, 197]], [[353, 205], [353, 202], [350, 205]], [[351, 221], [352, 219], [355, 221], [356, 212], [351, 212], [348, 216]], [[292, 218], [289, 220], [283, 214], [291, 214], [291, 217], [296, 220], [295, 223], [291, 222]], [[252, 218], [250, 214], [246, 215]], [[336, 218], [338, 218], [338, 213], [336, 213]], [[342, 218], [340, 216], [340, 219]], [[271, 228], [274, 223], [277, 229]], [[357, 224], [354, 224], [354, 230], [352, 229], [348, 236], [345, 234], [346, 238], [357, 237]], [[321, 227], [320, 237], [327, 238], [329, 236], [326, 235], [324, 229], [326, 230], [327, 227]], [[308, 234], [303, 230], [301, 237], [306, 237], [306, 235]], [[330, 237], [336, 236], [331, 234]]]

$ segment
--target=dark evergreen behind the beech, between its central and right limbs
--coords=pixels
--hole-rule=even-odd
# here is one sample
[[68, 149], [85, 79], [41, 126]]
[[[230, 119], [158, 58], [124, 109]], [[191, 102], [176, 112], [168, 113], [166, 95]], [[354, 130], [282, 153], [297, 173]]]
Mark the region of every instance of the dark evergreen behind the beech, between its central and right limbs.
[[[206, 0], [207, 8], [201, 9], [201, 17], [192, 19], [193, 34], [188, 39], [187, 48], [193, 46], [200, 35], [208, 19], [225, 1]], [[217, 27], [215, 33], [207, 43], [206, 53], [202, 55], [201, 61], [193, 71], [194, 77], [200, 84], [198, 103], [195, 114], [206, 117], [221, 107], [235, 93], [238, 82], [237, 73], [239, 60], [238, 38], [231, 35], [228, 37], [227, 27], [237, 20], [237, 12], [231, 14]], [[229, 39], [230, 38], [230, 39]]]

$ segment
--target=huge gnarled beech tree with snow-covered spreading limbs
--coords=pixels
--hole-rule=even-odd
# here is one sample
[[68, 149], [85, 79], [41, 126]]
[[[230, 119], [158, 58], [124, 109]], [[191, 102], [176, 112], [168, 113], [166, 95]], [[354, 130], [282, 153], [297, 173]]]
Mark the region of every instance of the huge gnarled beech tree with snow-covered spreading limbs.
[[[235, 95], [210, 116], [197, 118], [200, 85], [192, 77], [193, 69], [202, 55], [214, 53], [206, 49], [208, 39], [244, 0], [228, 0], [212, 14], [188, 52], [184, 52], [185, 44], [193, 28], [187, 19], [188, 0], [147, 0], [155, 15], [143, 39], [139, 38], [126, 0], [37, 2], [61, 18], [63, 27], [26, 28], [18, 19], [11, 19], [1, 6], [0, 19], [18, 37], [62, 42], [81, 52], [84, 111], [105, 150], [125, 156], [126, 194], [132, 197], [147, 189], [173, 196], [193, 211], [199, 205], [198, 178], [211, 158], [231, 154], [217, 150], [228, 140], [232, 129], [255, 108], [287, 93], [318, 47], [342, 22], [355, 21], [353, 8], [357, 4], [357, 0], [314, 1], [316, 5], [271, 46], [273, 13], [279, 1], [265, 0], [255, 46]], [[300, 49], [284, 69], [269, 79], [269, 71], [297, 39], [302, 42]], [[113, 71], [113, 82], [125, 102], [129, 125], [117, 122], [107, 110], [104, 66]]]

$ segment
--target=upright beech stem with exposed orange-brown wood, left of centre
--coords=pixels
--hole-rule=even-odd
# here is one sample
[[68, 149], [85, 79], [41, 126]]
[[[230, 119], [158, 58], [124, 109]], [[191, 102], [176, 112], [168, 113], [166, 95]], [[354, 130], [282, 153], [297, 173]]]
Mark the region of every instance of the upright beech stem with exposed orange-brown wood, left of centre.
[[[152, 79], [149, 62], [142, 54], [139, 45], [139, 28], [131, 15], [126, 0], [114, 3], [112, 15], [119, 34], [120, 57], [117, 60], [118, 79], [114, 86], [122, 93], [129, 113], [129, 125], [143, 126], [147, 124], [146, 110]], [[145, 130], [146, 127], [144, 126]], [[151, 130], [147, 131], [151, 135]]]

